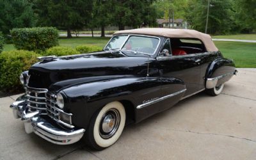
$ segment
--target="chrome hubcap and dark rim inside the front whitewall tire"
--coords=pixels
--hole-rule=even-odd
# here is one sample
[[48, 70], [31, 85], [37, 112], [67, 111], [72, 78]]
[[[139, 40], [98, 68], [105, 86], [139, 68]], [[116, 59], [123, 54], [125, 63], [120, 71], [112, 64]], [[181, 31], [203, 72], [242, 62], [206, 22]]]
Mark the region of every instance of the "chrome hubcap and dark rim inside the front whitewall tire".
[[104, 139], [111, 138], [117, 131], [120, 124], [120, 113], [111, 108], [102, 116], [100, 123], [100, 136]]

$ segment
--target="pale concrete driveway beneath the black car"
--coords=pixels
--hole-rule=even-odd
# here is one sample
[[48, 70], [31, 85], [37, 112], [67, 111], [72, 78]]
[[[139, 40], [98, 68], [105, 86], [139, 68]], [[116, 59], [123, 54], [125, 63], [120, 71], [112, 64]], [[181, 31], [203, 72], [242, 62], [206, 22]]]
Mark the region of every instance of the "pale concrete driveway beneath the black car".
[[60, 146], [26, 134], [0, 99], [0, 159], [255, 159], [256, 68], [239, 69], [221, 95], [199, 93], [173, 108], [125, 128], [101, 152], [80, 141]]

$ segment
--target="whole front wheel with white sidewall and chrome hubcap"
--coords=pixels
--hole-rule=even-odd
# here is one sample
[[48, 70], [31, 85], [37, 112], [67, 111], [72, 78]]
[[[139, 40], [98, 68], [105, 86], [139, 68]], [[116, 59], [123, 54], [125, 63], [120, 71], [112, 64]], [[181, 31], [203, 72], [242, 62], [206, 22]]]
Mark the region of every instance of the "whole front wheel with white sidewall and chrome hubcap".
[[110, 102], [98, 111], [88, 127], [86, 141], [90, 147], [102, 150], [115, 143], [125, 125], [125, 109], [120, 102]]

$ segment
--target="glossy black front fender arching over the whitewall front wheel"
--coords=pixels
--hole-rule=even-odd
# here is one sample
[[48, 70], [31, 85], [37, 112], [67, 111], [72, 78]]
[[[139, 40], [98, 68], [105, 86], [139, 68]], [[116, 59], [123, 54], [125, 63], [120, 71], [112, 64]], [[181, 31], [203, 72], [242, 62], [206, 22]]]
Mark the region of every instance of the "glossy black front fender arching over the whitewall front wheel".
[[[63, 90], [67, 96], [67, 109], [74, 116], [77, 127], [86, 128], [90, 118], [104, 105], [115, 100], [129, 100], [133, 106], [145, 99], [161, 95], [160, 77], [123, 77], [77, 84]], [[140, 113], [147, 116], [147, 112]]]

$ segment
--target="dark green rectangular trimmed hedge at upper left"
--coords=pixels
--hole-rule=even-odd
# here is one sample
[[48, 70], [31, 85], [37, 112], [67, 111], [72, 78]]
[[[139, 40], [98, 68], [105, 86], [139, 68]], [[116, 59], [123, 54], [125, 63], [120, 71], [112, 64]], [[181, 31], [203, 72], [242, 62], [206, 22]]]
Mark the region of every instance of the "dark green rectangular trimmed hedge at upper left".
[[58, 45], [59, 35], [56, 28], [15, 28], [10, 33], [17, 49], [45, 51]]

